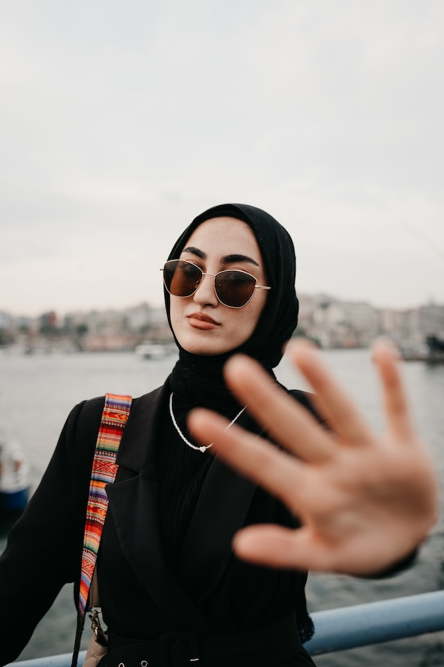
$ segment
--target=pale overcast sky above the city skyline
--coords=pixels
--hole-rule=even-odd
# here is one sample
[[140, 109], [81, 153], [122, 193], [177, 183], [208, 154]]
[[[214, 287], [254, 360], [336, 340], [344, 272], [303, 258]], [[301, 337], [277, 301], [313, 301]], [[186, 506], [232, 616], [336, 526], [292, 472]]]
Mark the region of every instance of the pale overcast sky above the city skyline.
[[444, 304], [442, 0], [2, 0], [0, 311], [163, 302], [253, 204], [296, 288]]

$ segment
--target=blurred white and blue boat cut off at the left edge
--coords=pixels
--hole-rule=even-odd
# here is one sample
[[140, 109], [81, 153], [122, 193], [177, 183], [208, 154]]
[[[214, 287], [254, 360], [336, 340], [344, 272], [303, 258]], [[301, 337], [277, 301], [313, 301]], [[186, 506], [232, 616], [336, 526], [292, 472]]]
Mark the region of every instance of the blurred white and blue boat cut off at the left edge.
[[14, 440], [0, 441], [0, 517], [15, 516], [29, 497], [29, 470], [21, 447]]

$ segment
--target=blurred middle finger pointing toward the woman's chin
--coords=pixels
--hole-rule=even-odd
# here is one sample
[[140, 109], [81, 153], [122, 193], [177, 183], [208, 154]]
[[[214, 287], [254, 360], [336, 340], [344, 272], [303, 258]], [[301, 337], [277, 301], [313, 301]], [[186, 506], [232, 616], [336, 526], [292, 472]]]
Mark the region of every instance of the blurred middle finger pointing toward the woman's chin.
[[241, 403], [276, 442], [305, 461], [332, 454], [330, 435], [253, 359], [237, 355], [225, 364], [225, 379]]

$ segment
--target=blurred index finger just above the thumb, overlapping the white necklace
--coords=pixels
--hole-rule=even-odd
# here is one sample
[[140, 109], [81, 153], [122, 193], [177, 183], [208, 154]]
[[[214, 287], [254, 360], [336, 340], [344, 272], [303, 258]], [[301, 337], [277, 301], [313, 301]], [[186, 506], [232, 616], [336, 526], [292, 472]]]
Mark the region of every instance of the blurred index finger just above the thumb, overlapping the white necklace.
[[278, 450], [259, 436], [204, 409], [192, 411], [188, 427], [194, 438], [213, 443], [212, 452], [241, 475], [257, 482], [297, 513], [306, 492], [305, 463]]

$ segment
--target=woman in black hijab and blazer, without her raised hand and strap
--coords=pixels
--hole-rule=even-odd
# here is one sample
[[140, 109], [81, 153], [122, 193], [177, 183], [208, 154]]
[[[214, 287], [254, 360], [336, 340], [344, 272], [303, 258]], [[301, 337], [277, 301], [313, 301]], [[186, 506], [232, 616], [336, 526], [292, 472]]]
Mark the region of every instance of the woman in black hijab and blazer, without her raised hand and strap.
[[[245, 411], [248, 396], [239, 401], [230, 393], [223, 366], [234, 352], [248, 354], [275, 384], [273, 368], [297, 322], [295, 271], [288, 233], [251, 206], [206, 211], [171, 251], [165, 299], [180, 357], [164, 386], [133, 401], [117, 479], [107, 489], [97, 562], [110, 635], [103, 665], [313, 664], [302, 648], [312, 634], [305, 572], [252, 566], [234, 557], [230, 546], [245, 525], [294, 529], [297, 520], [210, 456], [205, 429], [199, 441], [187, 428], [191, 409], [203, 406], [227, 418], [226, 434], [236, 425], [264, 433]], [[305, 393], [291, 392], [291, 400], [312, 411]], [[6, 638], [0, 664], [17, 657], [63, 584], [74, 581], [78, 599], [102, 409], [99, 398], [71, 411], [49, 468], [10, 535], [0, 561]]]

